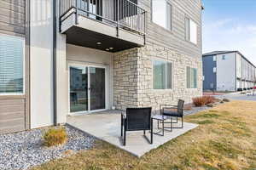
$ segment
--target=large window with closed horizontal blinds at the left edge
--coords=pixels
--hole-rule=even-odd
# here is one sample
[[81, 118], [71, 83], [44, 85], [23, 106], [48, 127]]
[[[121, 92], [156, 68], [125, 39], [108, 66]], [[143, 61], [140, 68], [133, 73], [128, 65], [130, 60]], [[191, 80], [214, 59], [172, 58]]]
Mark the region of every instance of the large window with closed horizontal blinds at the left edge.
[[0, 35], [0, 94], [24, 94], [24, 40]]

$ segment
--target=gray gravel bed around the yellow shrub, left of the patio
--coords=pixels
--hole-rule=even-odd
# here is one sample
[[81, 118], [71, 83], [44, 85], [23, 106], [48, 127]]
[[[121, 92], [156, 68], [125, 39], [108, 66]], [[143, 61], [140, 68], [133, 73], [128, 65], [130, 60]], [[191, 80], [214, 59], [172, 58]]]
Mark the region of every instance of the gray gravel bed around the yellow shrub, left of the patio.
[[95, 138], [73, 127], [67, 130], [67, 143], [45, 147], [42, 136], [48, 128], [0, 135], [0, 169], [28, 169], [46, 161], [90, 149]]

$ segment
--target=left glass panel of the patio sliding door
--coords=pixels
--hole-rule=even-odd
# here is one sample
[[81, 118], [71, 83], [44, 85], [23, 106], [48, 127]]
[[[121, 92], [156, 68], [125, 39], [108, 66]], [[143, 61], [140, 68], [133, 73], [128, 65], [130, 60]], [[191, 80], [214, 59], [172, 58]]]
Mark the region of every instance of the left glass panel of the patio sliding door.
[[88, 111], [88, 67], [71, 66], [70, 112]]

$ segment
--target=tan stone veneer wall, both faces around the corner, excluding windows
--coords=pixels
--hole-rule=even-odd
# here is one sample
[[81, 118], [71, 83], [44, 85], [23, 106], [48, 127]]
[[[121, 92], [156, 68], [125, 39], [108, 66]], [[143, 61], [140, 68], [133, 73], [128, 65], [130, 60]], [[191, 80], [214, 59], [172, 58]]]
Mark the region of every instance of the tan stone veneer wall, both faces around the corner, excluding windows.
[[[172, 89], [153, 89], [153, 59], [172, 62]], [[133, 48], [114, 54], [114, 105], [126, 107], [177, 104], [177, 99], [190, 103], [193, 97], [202, 95], [201, 56], [189, 57], [167, 48], [148, 43], [143, 48]], [[186, 67], [198, 69], [198, 88], [187, 88]]]

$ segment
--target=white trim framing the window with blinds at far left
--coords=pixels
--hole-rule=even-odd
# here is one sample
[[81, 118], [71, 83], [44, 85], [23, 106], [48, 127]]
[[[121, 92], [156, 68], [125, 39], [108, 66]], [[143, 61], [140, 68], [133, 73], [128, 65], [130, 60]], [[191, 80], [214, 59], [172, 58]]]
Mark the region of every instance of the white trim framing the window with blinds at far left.
[[23, 92], [22, 93], [3, 93], [1, 94], [0, 93], [0, 96], [22, 96], [22, 95], [25, 95], [26, 94], [26, 59], [25, 59], [25, 50], [26, 50], [26, 47], [25, 47], [25, 37], [18, 37], [18, 36], [10, 36], [10, 35], [6, 35], [6, 34], [0, 34], [0, 36], [2, 37], [14, 37], [14, 38], [20, 38], [20, 40], [22, 40], [23, 42]]

